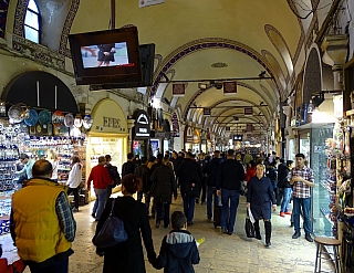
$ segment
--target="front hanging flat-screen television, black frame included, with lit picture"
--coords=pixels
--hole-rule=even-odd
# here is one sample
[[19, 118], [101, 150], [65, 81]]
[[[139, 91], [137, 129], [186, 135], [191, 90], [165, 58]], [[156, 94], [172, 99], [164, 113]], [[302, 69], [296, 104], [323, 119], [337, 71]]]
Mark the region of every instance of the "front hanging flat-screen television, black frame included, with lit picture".
[[136, 27], [69, 35], [77, 85], [143, 81]]

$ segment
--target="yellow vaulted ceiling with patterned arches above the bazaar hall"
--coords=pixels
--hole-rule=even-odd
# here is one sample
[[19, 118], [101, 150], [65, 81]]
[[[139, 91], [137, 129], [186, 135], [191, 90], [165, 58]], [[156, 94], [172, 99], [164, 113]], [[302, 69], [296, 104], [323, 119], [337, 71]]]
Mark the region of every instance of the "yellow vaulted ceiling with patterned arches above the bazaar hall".
[[[295, 66], [302, 66], [304, 59], [304, 33], [317, 4], [316, 0], [165, 0], [139, 8], [137, 0], [115, 0], [115, 27], [136, 25], [140, 43], [156, 44], [149, 98], [166, 98], [185, 120], [221, 134], [228, 134], [226, 127], [243, 130], [247, 124], [259, 133], [274, 125], [280, 102], [291, 92]], [[71, 33], [107, 29], [110, 15], [110, 1], [100, 1], [100, 7], [96, 0], [81, 1]], [[163, 83], [165, 75], [170, 82]], [[236, 81], [237, 94], [226, 96], [212, 81], [198, 80]], [[186, 84], [185, 96], [173, 96], [174, 81]], [[201, 82], [207, 88], [198, 87]], [[252, 107], [252, 116], [244, 116], [246, 106]], [[204, 116], [204, 107], [211, 108], [210, 117]]]

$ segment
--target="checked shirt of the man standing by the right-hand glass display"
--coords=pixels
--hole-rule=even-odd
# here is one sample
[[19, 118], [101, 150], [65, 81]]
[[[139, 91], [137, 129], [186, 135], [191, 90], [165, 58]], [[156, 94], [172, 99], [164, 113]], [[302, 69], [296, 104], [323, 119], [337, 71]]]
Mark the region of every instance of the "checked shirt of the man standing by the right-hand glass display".
[[[313, 170], [305, 166], [302, 170], [299, 169], [299, 167], [293, 168], [291, 170], [291, 178], [292, 177], [302, 177], [310, 182], [314, 182]], [[292, 196], [294, 198], [309, 198], [311, 197], [311, 187], [304, 182], [295, 181], [292, 188]]]

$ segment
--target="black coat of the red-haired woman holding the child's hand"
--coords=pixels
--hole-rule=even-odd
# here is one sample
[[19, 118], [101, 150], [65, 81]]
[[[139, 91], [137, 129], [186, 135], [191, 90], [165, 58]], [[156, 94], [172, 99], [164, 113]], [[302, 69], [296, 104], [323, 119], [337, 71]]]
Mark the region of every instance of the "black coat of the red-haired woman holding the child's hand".
[[[112, 200], [110, 198], [106, 202], [96, 227], [96, 233], [102, 229], [110, 216]], [[103, 273], [144, 273], [146, 270], [142, 238], [147, 256], [149, 259], [156, 258], [146, 206], [136, 201], [133, 197], [117, 197], [115, 200], [114, 213], [124, 222], [128, 240], [112, 248], [97, 249], [97, 252], [105, 253]]]

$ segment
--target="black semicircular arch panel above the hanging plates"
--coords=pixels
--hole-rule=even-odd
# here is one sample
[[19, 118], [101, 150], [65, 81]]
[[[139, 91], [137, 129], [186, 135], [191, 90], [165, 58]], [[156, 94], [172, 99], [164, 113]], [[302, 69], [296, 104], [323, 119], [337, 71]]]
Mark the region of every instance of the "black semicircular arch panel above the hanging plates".
[[42, 72], [25, 72], [14, 77], [1, 94], [1, 99], [11, 106], [27, 106], [77, 114], [77, 103], [70, 88], [56, 76]]

